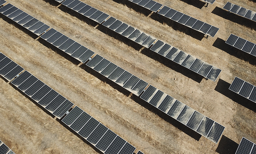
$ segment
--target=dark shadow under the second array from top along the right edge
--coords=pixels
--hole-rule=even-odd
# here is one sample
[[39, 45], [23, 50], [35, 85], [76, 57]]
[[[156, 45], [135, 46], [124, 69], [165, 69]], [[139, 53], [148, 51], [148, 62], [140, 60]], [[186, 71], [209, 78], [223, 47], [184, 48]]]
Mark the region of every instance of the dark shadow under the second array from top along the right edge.
[[228, 54], [242, 59], [244, 61], [248, 61], [252, 65], [256, 65], [256, 57], [248, 54], [242, 50], [239, 50], [231, 45], [225, 43], [226, 41], [222, 40], [221, 38], [217, 38], [216, 41], [213, 43], [213, 46], [227, 52]]

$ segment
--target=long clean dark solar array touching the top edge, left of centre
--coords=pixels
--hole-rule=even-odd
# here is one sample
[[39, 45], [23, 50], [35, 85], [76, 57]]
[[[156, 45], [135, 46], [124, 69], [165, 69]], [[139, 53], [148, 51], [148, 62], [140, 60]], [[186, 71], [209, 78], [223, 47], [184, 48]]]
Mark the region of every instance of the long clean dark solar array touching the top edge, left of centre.
[[97, 10], [96, 8], [91, 7], [79, 0], [66, 0], [62, 2], [62, 5], [71, 8], [72, 10], [98, 22], [102, 23], [106, 18], [109, 17], [106, 13]]

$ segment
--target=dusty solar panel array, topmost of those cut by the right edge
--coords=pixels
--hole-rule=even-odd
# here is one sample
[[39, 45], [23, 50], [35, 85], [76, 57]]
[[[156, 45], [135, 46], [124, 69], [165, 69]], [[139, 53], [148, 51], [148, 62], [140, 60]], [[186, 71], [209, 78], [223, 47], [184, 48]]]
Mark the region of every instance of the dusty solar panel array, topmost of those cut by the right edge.
[[234, 14], [240, 15], [244, 18], [248, 18], [252, 21], [256, 21], [256, 12], [243, 8], [241, 6], [235, 5], [231, 2], [227, 2], [227, 4], [223, 7], [224, 10], [230, 11]]

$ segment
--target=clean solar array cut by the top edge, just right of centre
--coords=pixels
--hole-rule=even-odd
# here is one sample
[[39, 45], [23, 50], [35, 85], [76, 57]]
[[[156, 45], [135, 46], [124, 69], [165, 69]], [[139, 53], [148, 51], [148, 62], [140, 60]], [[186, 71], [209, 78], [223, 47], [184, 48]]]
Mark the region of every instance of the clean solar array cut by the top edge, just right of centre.
[[157, 3], [152, 0], [129, 0], [129, 1], [135, 4], [138, 4], [144, 8], [147, 8], [153, 12], [157, 12], [163, 6], [163, 4]]

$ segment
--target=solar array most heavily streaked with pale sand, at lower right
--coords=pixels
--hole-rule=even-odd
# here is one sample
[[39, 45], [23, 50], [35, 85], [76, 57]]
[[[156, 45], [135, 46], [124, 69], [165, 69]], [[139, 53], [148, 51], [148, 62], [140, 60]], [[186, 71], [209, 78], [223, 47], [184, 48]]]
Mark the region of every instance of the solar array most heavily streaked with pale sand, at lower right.
[[216, 144], [225, 129], [224, 126], [152, 85], [146, 89], [140, 98]]

